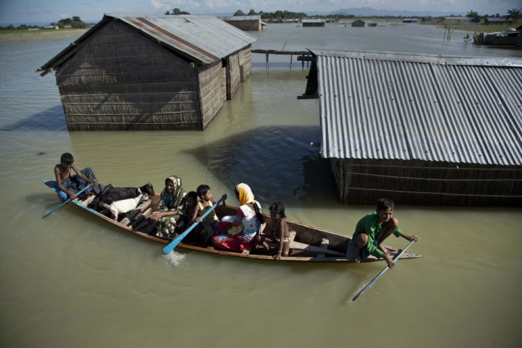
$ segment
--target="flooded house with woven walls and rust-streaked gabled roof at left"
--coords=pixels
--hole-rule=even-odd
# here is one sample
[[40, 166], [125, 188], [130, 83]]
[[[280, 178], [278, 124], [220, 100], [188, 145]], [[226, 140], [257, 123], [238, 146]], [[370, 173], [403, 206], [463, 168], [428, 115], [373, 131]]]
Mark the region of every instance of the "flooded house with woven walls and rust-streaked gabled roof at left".
[[56, 73], [70, 130], [201, 130], [251, 74], [255, 40], [216, 17], [111, 14], [38, 71]]

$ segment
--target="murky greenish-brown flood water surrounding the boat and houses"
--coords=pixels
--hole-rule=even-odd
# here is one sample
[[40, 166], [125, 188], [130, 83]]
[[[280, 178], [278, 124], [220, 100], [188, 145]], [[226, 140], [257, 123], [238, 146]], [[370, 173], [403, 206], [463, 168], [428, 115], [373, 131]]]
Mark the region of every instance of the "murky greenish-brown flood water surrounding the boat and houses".
[[[521, 58], [521, 51], [450, 42], [435, 26], [322, 29], [269, 25], [255, 49], [306, 48]], [[472, 34], [472, 33], [471, 33]], [[421, 237], [385, 267], [243, 261], [177, 250], [58, 205], [41, 184], [63, 152], [101, 182], [161, 190], [207, 183], [214, 196], [250, 184], [266, 210], [351, 235], [373, 205], [340, 205], [306, 67], [254, 55], [253, 74], [204, 132], [68, 132], [56, 80], [35, 69], [74, 38], [0, 46], [1, 347], [521, 347], [521, 209], [397, 202], [402, 230]], [[405, 246], [390, 237], [387, 244]]]

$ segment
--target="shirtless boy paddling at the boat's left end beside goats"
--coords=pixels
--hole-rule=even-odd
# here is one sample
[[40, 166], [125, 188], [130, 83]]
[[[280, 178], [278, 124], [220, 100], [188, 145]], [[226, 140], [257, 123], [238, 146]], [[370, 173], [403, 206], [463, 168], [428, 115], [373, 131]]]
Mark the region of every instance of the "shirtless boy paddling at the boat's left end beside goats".
[[[72, 171], [76, 175], [71, 175]], [[54, 176], [56, 177], [56, 191], [58, 198], [65, 202], [68, 198], [77, 198], [76, 193], [84, 189], [88, 184], [96, 184], [96, 176], [90, 167], [81, 171], [74, 166], [74, 158], [69, 152], [65, 152], [60, 157], [60, 164], [54, 166]], [[90, 191], [90, 189], [88, 190]], [[88, 192], [85, 192], [88, 193]]]

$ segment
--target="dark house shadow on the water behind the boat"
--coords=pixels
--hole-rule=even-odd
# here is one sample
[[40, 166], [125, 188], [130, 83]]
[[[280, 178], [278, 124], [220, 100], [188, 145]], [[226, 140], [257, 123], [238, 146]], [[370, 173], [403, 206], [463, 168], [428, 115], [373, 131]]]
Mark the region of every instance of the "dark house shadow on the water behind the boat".
[[335, 192], [326, 189], [333, 187], [328, 161], [310, 146], [310, 139], [320, 136], [317, 126], [262, 126], [187, 153], [226, 187], [248, 182], [261, 202], [284, 200], [287, 207], [300, 207], [301, 203], [317, 207], [322, 200], [336, 199]]

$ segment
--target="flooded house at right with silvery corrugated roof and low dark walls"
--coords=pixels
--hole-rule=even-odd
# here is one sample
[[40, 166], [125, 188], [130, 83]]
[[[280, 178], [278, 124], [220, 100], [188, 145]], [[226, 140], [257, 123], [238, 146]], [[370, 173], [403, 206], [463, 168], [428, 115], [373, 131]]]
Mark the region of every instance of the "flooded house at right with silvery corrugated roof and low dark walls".
[[342, 203], [522, 206], [522, 60], [311, 52]]

